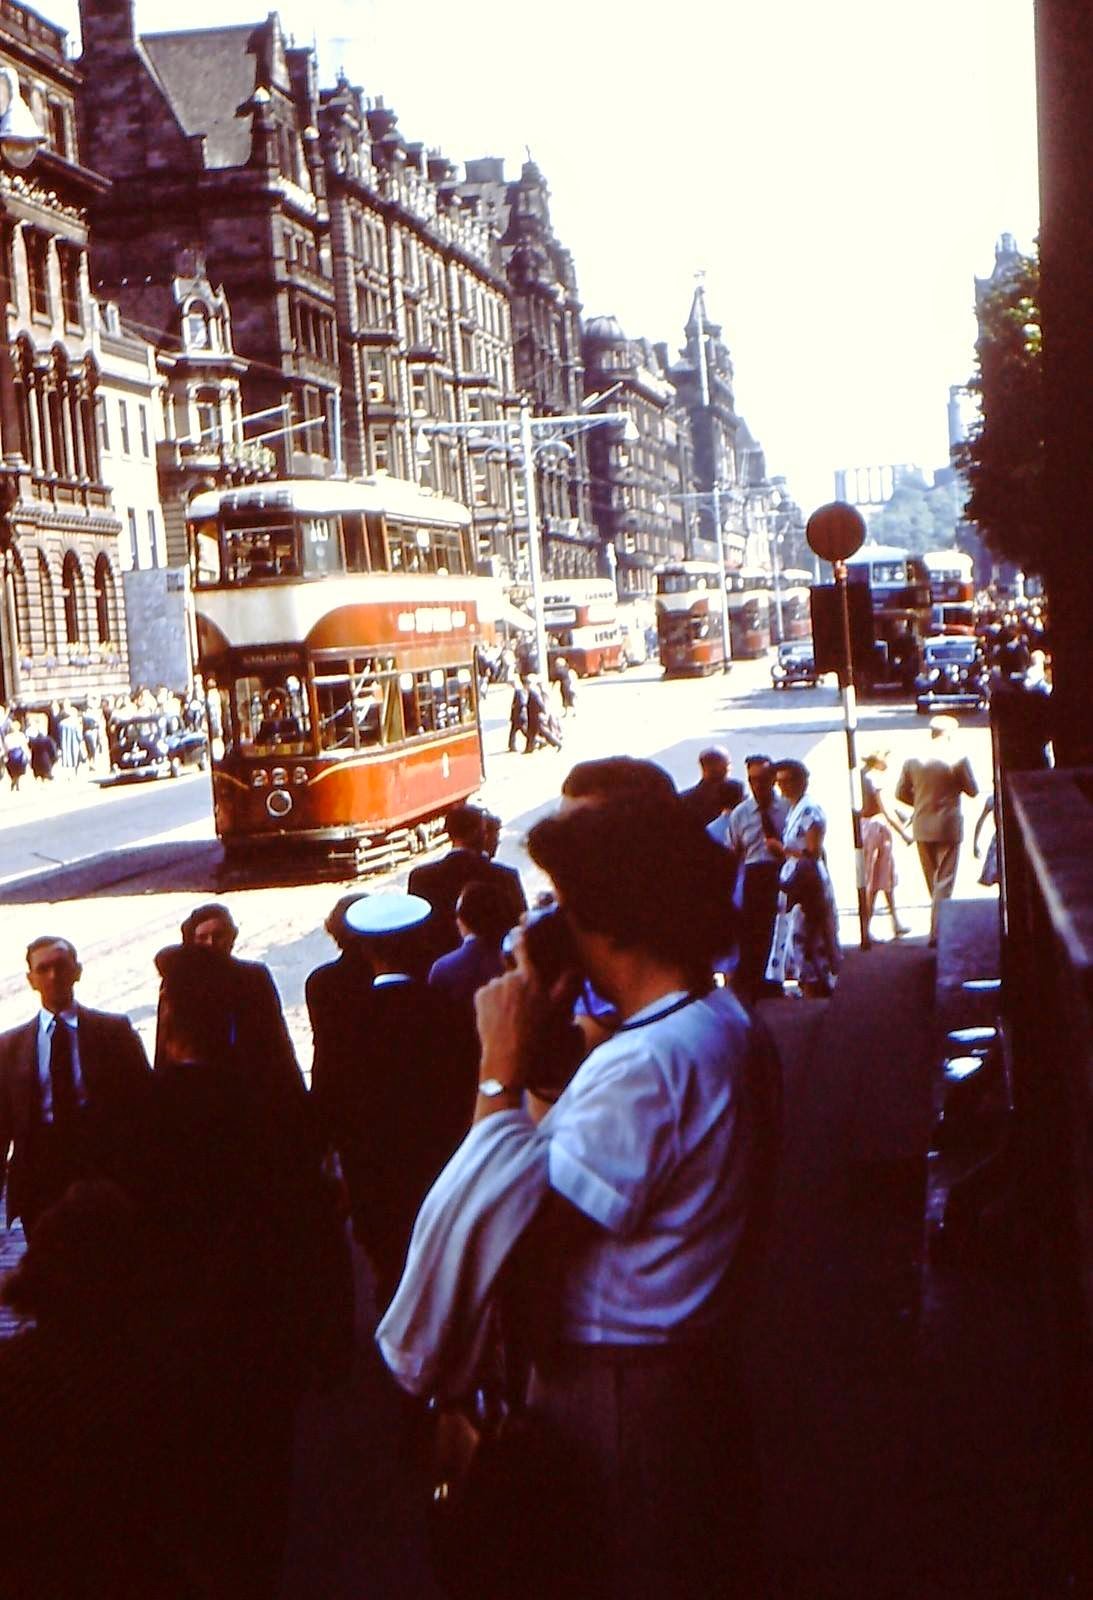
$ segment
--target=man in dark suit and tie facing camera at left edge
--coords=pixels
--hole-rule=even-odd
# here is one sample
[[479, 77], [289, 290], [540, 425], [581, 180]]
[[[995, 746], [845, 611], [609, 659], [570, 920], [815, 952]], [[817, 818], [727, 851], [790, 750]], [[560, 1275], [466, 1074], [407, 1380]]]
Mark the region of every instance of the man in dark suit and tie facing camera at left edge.
[[147, 1056], [128, 1018], [75, 1003], [80, 974], [67, 939], [32, 939], [27, 982], [40, 1008], [0, 1035], [0, 1173], [8, 1227], [19, 1216], [27, 1234], [78, 1179], [139, 1189], [144, 1178]]

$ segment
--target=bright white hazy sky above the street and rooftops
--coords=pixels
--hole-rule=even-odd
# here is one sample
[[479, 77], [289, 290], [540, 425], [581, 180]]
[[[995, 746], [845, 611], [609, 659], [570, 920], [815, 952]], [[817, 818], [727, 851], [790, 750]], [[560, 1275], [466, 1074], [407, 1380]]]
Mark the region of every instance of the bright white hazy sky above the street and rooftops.
[[[275, 0], [138, 0], [144, 32]], [[77, 0], [40, 0], [77, 27]], [[1032, 0], [283, 0], [453, 160], [525, 146], [586, 315], [682, 339], [695, 274], [736, 405], [805, 510], [839, 466], [947, 458], [973, 275], [1037, 230]], [[184, 19], [184, 21], [182, 21]]]

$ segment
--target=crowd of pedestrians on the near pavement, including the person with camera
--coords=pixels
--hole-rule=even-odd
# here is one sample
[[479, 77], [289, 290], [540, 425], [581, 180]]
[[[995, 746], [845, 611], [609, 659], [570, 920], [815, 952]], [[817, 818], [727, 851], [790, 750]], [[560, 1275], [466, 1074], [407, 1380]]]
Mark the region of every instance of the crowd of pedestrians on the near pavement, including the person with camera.
[[[947, 741], [896, 784], [935, 902], [952, 851], [930, 818], [975, 792]], [[867, 773], [903, 835], [883, 752]], [[781, 1075], [755, 1002], [829, 995], [840, 965], [808, 770], [752, 754], [743, 784], [711, 747], [679, 794], [651, 762], [579, 763], [528, 837], [551, 883], [531, 912], [499, 819], [445, 822], [405, 894], [333, 907], [310, 1088], [222, 902], [155, 958], [152, 1064], [77, 1002], [74, 946], [30, 942], [37, 1008], [0, 1037], [27, 1235], [3, 1294], [32, 1318], [0, 1347], [5, 1594], [277, 1594], [301, 1397], [352, 1371], [350, 1240], [403, 1422], [477, 1403], [486, 1429], [483, 1395], [523, 1421], [453, 1592], [763, 1592], [739, 1331]], [[891, 886], [879, 869], [901, 933]]]

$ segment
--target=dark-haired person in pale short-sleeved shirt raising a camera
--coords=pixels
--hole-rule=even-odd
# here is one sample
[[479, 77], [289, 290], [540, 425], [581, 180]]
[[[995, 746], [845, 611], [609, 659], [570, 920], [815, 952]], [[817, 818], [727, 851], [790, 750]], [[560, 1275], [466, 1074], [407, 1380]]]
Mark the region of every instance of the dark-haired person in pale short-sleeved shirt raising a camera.
[[[504, 1138], [522, 1118], [528, 1144], [547, 1141], [547, 1200], [518, 1251], [544, 1301], [531, 1325], [557, 1330], [534, 1350], [530, 1406], [578, 1491], [554, 1544], [579, 1592], [611, 1600], [706, 1600], [727, 1574], [752, 1592], [735, 1330], [770, 1214], [781, 1088], [755, 1026], [711, 981], [733, 936], [730, 862], [677, 797], [655, 795], [570, 802], [528, 850], [583, 974], [621, 1018], [536, 1130], [523, 1086], [562, 992], [518, 939], [515, 971], [477, 998], [475, 1122], [507, 1112]], [[656, 859], [656, 896], [634, 859]], [[536, 1515], [557, 1510], [547, 1494]]]

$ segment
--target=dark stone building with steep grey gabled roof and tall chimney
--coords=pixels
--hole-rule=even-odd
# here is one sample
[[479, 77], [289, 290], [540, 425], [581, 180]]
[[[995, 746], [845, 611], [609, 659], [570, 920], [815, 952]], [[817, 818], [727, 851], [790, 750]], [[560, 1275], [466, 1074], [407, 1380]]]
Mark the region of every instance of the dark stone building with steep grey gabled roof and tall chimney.
[[[157, 342], [178, 326], [181, 253], [208, 264], [246, 366], [246, 437], [277, 470], [341, 466], [334, 275], [310, 50], [275, 13], [243, 27], [134, 32], [133, 0], [82, 0], [96, 291]], [[171, 346], [174, 347], [174, 346]]]

